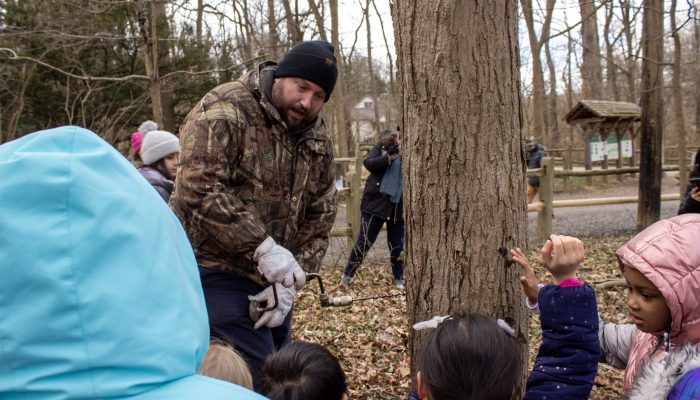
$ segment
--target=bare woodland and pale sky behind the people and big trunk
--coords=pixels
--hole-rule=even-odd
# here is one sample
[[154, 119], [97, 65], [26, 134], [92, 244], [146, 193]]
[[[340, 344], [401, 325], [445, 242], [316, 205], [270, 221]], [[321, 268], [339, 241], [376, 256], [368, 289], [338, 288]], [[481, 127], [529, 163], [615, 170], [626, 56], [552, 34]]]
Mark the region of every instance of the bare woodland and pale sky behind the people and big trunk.
[[[578, 100], [639, 103], [642, 6], [520, 0], [524, 136], [578, 145], [563, 121]], [[677, 144], [680, 132], [700, 142], [697, 6], [664, 2], [665, 145]], [[401, 124], [392, 7], [386, 0], [1, 0], [0, 143], [76, 124], [126, 151], [143, 120], [177, 133], [211, 88], [295, 43], [325, 39], [337, 49], [341, 79], [324, 116], [337, 154], [351, 156], [360, 120], [374, 130]], [[367, 98], [369, 109], [358, 109]]]

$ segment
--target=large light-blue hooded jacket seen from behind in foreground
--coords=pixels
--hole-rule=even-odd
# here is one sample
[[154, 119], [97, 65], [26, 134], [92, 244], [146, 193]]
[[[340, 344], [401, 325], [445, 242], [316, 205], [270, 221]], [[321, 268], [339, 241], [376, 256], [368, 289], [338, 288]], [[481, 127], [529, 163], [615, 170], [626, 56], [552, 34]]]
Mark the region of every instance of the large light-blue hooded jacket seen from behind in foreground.
[[177, 218], [93, 132], [0, 146], [0, 397], [262, 399], [196, 375], [209, 341]]

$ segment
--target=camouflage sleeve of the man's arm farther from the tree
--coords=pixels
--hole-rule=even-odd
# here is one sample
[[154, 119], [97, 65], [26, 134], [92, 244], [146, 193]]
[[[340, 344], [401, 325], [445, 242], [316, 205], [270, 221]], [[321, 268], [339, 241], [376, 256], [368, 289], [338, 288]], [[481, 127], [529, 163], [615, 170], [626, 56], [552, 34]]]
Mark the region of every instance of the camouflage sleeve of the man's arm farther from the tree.
[[[200, 107], [203, 107], [203, 102]], [[195, 252], [219, 262], [253, 252], [267, 236], [253, 206], [237, 196], [232, 176], [241, 157], [242, 127], [230, 103], [193, 111], [180, 129], [181, 162], [171, 207], [180, 218]]]

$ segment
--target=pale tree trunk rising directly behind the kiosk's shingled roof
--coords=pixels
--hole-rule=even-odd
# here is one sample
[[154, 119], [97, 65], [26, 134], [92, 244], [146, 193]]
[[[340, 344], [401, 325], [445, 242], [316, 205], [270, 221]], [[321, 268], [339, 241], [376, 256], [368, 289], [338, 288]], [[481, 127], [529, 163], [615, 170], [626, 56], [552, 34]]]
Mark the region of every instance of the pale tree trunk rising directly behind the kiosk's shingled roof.
[[596, 100], [601, 96], [602, 71], [595, 0], [579, 0], [579, 8], [583, 39], [583, 61], [581, 62], [583, 98]]

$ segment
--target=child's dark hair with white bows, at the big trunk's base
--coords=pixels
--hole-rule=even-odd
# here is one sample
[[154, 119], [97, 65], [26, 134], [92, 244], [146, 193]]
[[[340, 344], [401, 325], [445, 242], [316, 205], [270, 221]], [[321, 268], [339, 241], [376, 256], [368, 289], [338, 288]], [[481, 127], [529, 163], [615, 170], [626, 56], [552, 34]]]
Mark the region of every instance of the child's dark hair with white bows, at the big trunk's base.
[[431, 399], [511, 399], [520, 379], [520, 353], [494, 320], [457, 314], [425, 339], [418, 371]]

